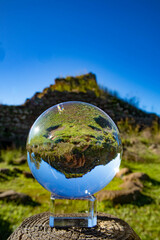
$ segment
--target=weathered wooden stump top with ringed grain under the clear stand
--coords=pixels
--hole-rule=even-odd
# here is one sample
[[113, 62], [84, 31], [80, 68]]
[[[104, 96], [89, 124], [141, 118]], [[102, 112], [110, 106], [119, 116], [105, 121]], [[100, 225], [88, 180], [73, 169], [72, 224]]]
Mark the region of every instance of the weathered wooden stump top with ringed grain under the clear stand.
[[125, 221], [108, 214], [98, 214], [97, 226], [93, 228], [51, 228], [49, 215], [44, 212], [25, 219], [8, 240], [140, 240]]

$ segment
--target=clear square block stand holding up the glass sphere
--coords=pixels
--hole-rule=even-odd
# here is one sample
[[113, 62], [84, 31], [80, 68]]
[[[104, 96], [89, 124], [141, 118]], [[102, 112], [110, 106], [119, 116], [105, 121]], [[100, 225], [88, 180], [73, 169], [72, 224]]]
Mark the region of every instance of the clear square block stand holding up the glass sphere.
[[96, 224], [97, 201], [93, 195], [66, 199], [51, 194], [50, 227], [94, 227]]

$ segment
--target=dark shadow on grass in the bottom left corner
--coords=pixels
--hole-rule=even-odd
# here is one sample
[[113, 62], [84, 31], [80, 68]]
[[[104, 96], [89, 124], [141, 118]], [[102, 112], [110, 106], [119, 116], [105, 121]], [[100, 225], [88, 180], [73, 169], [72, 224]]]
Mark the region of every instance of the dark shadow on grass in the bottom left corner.
[[11, 224], [0, 215], [0, 239], [6, 240], [12, 233]]

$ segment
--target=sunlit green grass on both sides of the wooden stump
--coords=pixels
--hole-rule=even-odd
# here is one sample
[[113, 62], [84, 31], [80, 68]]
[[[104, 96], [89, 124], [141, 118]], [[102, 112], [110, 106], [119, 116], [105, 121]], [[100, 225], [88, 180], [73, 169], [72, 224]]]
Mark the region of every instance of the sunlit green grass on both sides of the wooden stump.
[[[6, 152], [6, 154], [9, 154]], [[15, 153], [13, 153], [15, 154]], [[4, 158], [4, 152], [1, 154], [3, 161], [0, 162], [0, 168], [15, 167], [9, 164], [7, 157]], [[11, 155], [11, 152], [10, 152]], [[19, 154], [17, 155], [19, 157]], [[145, 162], [129, 162], [122, 161], [121, 167], [129, 167], [133, 172], [147, 173], [151, 181], [145, 182], [143, 194], [146, 198], [140, 199], [139, 202], [125, 205], [113, 205], [109, 201], [98, 203], [98, 211], [115, 215], [126, 221], [142, 240], [159, 240], [160, 236], [160, 164], [159, 161]], [[19, 166], [21, 170], [29, 171], [26, 164]], [[114, 178], [113, 181], [105, 189], [116, 190], [122, 183], [121, 179]], [[40, 184], [33, 179], [27, 179], [22, 174], [17, 177], [8, 176], [7, 181], [1, 181], [1, 190], [15, 190], [17, 192], [26, 193], [32, 197], [37, 204], [17, 205], [16, 203], [7, 203], [0, 201], [0, 232], [3, 236], [2, 240], [14, 231], [21, 222], [34, 214], [50, 210], [50, 193], [46, 191]], [[147, 197], [152, 201], [147, 202]], [[71, 206], [70, 206], [71, 208]], [[74, 206], [73, 206], [74, 208]]]

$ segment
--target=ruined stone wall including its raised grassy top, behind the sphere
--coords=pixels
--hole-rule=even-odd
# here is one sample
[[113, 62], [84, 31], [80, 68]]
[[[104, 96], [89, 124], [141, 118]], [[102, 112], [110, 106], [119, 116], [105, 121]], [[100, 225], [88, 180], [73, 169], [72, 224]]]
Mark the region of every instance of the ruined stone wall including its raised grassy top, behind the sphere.
[[0, 105], [0, 147], [24, 145], [35, 119], [47, 108], [66, 101], [83, 101], [98, 106], [118, 123], [127, 121], [140, 129], [160, 122], [148, 114], [99, 88], [93, 73], [55, 79], [55, 84], [37, 92], [23, 105]]

